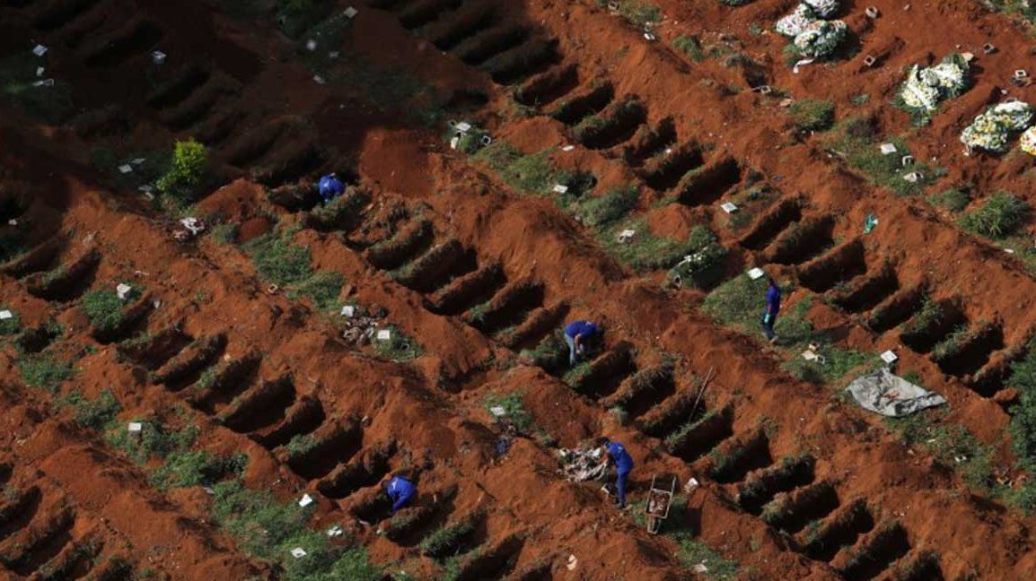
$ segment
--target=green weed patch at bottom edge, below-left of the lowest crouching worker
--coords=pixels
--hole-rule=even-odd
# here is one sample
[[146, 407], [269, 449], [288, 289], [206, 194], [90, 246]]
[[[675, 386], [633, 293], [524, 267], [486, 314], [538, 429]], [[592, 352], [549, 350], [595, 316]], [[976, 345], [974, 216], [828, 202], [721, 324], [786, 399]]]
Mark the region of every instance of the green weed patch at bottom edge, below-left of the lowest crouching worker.
[[[213, 487], [212, 515], [250, 555], [283, 568], [284, 581], [377, 581], [381, 572], [359, 546], [342, 547], [307, 526], [309, 513], [295, 502], [281, 503], [269, 492], [244, 488], [239, 481]], [[306, 551], [294, 558], [294, 548]]]

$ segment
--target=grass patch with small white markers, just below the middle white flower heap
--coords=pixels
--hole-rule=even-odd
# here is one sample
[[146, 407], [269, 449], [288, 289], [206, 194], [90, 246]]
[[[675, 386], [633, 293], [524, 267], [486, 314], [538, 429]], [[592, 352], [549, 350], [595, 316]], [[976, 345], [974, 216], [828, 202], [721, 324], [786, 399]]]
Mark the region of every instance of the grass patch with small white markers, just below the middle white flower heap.
[[[883, 154], [879, 149], [880, 143], [893, 144], [896, 153]], [[825, 141], [825, 146], [872, 183], [899, 195], [920, 193], [931, 183], [932, 172], [924, 164], [902, 165], [902, 157], [910, 153], [902, 137], [892, 136], [880, 142], [873, 126], [865, 120], [848, 119], [839, 123]], [[922, 178], [916, 182], [903, 179], [913, 172], [920, 173]]]

